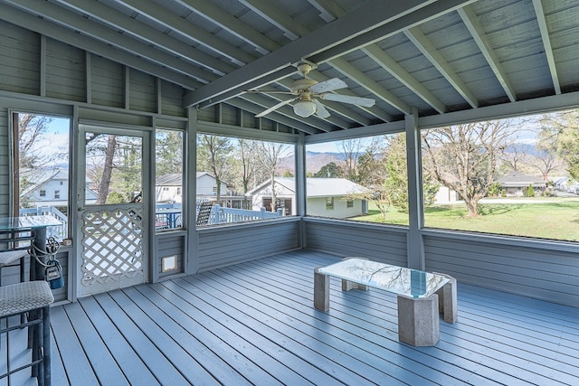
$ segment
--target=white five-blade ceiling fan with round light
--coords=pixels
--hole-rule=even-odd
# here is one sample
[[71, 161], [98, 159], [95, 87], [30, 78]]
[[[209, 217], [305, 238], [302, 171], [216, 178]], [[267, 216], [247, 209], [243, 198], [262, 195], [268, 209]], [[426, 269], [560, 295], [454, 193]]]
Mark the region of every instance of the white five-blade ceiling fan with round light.
[[335, 89], [346, 89], [347, 84], [344, 80], [338, 78], [332, 78], [324, 80], [318, 83], [316, 80], [310, 80], [307, 78], [308, 72], [312, 70], [312, 65], [309, 63], [299, 63], [297, 65], [298, 71], [301, 72], [302, 79], [295, 80], [290, 87], [290, 91], [279, 91], [271, 90], [264, 91], [259, 89], [249, 89], [247, 92], [264, 92], [269, 94], [289, 94], [293, 95], [294, 98], [286, 99], [281, 101], [275, 106], [268, 108], [261, 113], [257, 114], [255, 117], [263, 117], [271, 111], [276, 110], [282, 106], [285, 106], [291, 102], [296, 101], [293, 104], [293, 112], [299, 117], [308, 118], [314, 114], [319, 118], [327, 118], [330, 116], [329, 111], [324, 105], [319, 101], [319, 99], [334, 100], [336, 102], [350, 103], [353, 105], [364, 106], [366, 108], [371, 108], [375, 104], [374, 99], [353, 97], [349, 95], [334, 94], [329, 91]]

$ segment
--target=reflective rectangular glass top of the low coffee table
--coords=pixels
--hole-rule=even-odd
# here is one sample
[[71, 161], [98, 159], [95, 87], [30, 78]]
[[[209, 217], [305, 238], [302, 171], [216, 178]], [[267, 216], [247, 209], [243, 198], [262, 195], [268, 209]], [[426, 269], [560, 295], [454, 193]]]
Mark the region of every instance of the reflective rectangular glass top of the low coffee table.
[[318, 268], [318, 272], [406, 297], [430, 297], [450, 281], [443, 275], [357, 258]]

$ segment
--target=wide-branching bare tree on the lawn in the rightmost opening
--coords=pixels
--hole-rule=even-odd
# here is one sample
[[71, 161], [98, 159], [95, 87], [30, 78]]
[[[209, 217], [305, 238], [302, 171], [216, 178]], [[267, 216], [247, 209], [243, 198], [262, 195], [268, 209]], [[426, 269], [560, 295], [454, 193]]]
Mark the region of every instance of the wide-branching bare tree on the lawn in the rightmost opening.
[[425, 171], [464, 200], [470, 217], [495, 181], [498, 159], [510, 144], [515, 127], [494, 120], [439, 127], [422, 134]]

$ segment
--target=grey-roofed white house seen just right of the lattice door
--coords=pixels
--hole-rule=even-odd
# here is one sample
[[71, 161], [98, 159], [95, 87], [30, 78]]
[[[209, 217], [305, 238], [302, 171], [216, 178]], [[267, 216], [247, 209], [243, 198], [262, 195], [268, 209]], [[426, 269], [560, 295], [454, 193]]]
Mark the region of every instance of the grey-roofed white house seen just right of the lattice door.
[[[216, 200], [217, 179], [206, 172], [197, 172], [197, 198], [209, 201]], [[165, 174], [157, 177], [155, 182], [156, 202], [183, 202], [183, 175], [180, 173]], [[227, 184], [221, 182], [221, 204], [241, 208], [243, 197], [233, 197]]]

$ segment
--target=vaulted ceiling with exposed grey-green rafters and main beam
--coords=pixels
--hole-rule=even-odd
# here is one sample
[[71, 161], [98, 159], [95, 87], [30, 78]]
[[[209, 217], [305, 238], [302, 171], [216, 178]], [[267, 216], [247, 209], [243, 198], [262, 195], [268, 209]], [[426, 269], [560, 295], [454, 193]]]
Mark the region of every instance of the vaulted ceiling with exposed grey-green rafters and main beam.
[[[185, 106], [227, 103], [308, 134], [574, 93], [574, 0], [0, 0], [0, 19], [183, 86]], [[337, 78], [329, 117], [285, 93]], [[574, 94], [573, 94], [574, 95]]]

